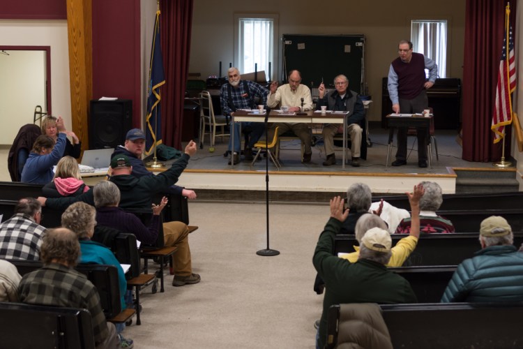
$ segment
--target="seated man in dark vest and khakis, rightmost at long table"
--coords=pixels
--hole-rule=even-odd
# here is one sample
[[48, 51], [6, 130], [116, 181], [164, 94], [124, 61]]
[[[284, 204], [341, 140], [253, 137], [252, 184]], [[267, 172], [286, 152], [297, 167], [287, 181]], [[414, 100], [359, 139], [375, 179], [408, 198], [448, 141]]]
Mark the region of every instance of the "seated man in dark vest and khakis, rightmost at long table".
[[[351, 165], [355, 168], [360, 165], [361, 140], [363, 129], [365, 128], [365, 109], [360, 96], [348, 89], [349, 79], [345, 75], [338, 75], [334, 78], [334, 91], [325, 94], [325, 85], [323, 82], [319, 85], [319, 99], [316, 103], [316, 109], [320, 110], [322, 105], [326, 105], [327, 110], [347, 111], [347, 133], [351, 136]], [[326, 124], [321, 135], [324, 138], [325, 155], [324, 166], [335, 165], [336, 158], [334, 155], [334, 135], [343, 133], [343, 125]], [[367, 143], [365, 143], [365, 147]]]

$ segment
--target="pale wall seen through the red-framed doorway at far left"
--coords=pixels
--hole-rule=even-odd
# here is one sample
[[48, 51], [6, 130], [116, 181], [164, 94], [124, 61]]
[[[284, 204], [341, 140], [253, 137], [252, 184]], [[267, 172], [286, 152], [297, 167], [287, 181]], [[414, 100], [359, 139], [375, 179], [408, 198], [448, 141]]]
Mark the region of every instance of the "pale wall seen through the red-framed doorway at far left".
[[12, 141], [21, 125], [33, 123], [36, 105], [46, 110], [45, 51], [6, 52], [0, 54], [1, 144]]

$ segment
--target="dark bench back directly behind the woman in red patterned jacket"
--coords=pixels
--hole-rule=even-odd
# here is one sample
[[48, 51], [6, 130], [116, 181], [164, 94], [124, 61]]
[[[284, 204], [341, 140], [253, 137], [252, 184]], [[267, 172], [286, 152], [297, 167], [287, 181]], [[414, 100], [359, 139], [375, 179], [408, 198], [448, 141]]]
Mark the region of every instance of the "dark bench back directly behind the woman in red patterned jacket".
[[[393, 246], [405, 234], [393, 234]], [[464, 232], [454, 234], [423, 234], [418, 240], [416, 249], [403, 263], [404, 267], [414, 265], [459, 265], [463, 260], [472, 258], [481, 249], [478, 241], [479, 232]], [[523, 232], [514, 233], [514, 245], [519, 247], [523, 242]], [[353, 246], [358, 245], [354, 235], [336, 235], [334, 253], [354, 252]]]

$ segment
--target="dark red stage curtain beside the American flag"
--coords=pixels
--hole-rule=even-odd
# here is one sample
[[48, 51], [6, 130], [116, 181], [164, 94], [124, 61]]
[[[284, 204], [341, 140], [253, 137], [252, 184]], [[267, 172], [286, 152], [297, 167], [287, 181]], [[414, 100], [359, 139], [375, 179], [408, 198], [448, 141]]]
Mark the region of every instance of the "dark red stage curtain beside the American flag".
[[[463, 154], [467, 161], [501, 158], [490, 130], [505, 24], [505, 1], [467, 0], [463, 70]], [[515, 28], [516, 1], [510, 1]], [[510, 128], [506, 128], [505, 157], [510, 156]]]

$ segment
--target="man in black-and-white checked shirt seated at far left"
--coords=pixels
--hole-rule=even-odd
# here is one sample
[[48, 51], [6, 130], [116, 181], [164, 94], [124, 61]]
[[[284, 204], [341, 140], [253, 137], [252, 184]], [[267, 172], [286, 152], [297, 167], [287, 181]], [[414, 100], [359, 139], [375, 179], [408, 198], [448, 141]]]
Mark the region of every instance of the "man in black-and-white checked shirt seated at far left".
[[40, 246], [45, 232], [40, 225], [40, 202], [35, 198], [20, 199], [14, 211], [13, 217], [0, 224], [0, 258], [40, 260]]

